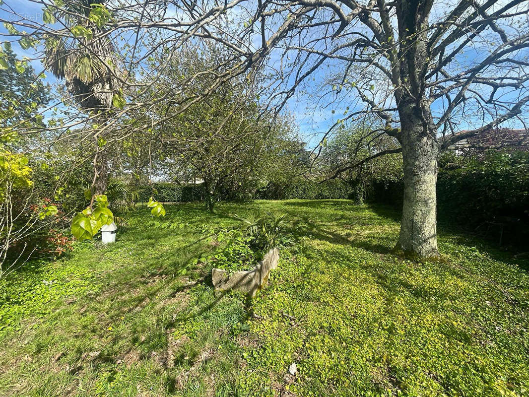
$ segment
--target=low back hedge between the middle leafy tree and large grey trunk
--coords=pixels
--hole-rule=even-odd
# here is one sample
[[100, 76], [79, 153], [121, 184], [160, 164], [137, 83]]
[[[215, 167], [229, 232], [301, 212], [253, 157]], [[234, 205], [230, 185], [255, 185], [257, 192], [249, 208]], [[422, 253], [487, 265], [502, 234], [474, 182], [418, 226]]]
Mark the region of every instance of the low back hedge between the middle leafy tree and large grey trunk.
[[288, 200], [303, 198], [315, 200], [319, 198], [350, 198], [352, 188], [348, 183], [333, 179], [324, 183], [306, 180], [295, 181], [288, 185], [269, 184], [257, 191], [255, 198], [267, 200]]

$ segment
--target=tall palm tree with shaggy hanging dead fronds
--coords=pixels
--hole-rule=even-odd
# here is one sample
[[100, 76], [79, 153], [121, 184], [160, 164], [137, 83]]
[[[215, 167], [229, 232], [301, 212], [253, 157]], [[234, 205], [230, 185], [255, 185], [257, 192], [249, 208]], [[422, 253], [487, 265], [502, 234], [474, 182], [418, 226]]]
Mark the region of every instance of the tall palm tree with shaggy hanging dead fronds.
[[[110, 118], [112, 100], [121, 85], [114, 46], [105, 34], [104, 23], [90, 20], [94, 5], [102, 3], [101, 0], [65, 2], [57, 16], [70, 23], [47, 38], [44, 53], [44, 66], [65, 80], [66, 89], [77, 104], [96, 115], [101, 127]], [[92, 190], [94, 194], [102, 194], [106, 190], [110, 167], [107, 154], [97, 145], [95, 156]]]

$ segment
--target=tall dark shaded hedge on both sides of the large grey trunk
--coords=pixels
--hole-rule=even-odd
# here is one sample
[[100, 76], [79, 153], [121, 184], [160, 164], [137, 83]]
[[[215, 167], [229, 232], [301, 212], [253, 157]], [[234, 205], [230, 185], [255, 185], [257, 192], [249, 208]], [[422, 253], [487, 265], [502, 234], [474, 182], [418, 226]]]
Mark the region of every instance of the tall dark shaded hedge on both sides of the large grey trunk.
[[[378, 181], [369, 200], [402, 207], [404, 182]], [[437, 218], [502, 245], [529, 240], [529, 152], [489, 151], [473, 158], [445, 155], [437, 176]]]

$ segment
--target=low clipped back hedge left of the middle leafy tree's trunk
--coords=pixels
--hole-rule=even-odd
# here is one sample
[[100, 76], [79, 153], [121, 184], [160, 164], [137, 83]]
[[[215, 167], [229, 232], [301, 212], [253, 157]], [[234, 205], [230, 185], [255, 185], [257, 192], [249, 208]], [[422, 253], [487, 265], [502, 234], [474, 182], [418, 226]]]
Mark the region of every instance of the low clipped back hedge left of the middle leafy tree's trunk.
[[177, 185], [174, 183], [154, 183], [154, 192], [151, 186], [141, 187], [139, 201], [147, 202], [151, 196], [162, 203], [202, 201], [204, 200], [203, 185]]

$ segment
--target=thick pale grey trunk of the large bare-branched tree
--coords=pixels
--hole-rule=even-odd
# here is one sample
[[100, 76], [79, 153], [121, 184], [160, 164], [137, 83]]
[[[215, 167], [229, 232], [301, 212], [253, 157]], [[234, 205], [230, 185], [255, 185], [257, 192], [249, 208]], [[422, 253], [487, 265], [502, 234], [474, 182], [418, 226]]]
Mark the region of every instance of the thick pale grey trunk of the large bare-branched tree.
[[402, 119], [404, 204], [397, 249], [406, 254], [436, 257], [439, 144], [435, 132], [413, 119], [413, 116]]

